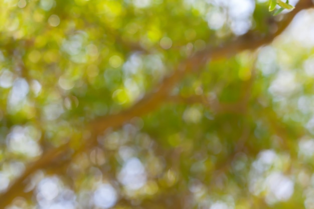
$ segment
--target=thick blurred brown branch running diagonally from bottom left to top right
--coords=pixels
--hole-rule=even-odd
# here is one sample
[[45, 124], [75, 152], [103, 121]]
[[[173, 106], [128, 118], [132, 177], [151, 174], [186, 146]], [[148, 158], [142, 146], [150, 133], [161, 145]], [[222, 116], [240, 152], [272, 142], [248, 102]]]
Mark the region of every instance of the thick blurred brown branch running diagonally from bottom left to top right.
[[[284, 29], [292, 21], [293, 17], [301, 10], [308, 9], [313, 6], [311, 0], [300, 0], [295, 9], [285, 15], [283, 20], [277, 23], [277, 31], [268, 36], [261, 36], [255, 34], [255, 32], [248, 32], [247, 34], [238, 37], [237, 39], [226, 43], [218, 48], [206, 48], [204, 51], [196, 53], [177, 66], [174, 73], [164, 79], [164, 81], [156, 88], [155, 91], [147, 94], [131, 108], [114, 115], [99, 117], [94, 121], [91, 121], [88, 125], [88, 129], [93, 136], [103, 133], [103, 131], [109, 127], [119, 127], [126, 121], [135, 116], [142, 116], [158, 108], [167, 98], [172, 88], [187, 74], [193, 71], [200, 70], [199, 66], [205, 64], [208, 60], [219, 60], [225, 57], [233, 56], [244, 50], [254, 50], [263, 45], [271, 43], [274, 38], [280, 35]], [[84, 150], [89, 147], [90, 144], [96, 142], [96, 137], [91, 137], [91, 140], [83, 141], [78, 150]], [[61, 153], [71, 152], [69, 146], [63, 145], [58, 148], [54, 148], [49, 152], [43, 154], [43, 156], [37, 161], [28, 166], [25, 173], [14, 181], [8, 188], [7, 192], [0, 196], [0, 208], [5, 208], [10, 204], [12, 200], [19, 196], [23, 196], [24, 181], [28, 176], [34, 173], [36, 170], [45, 167]]]

